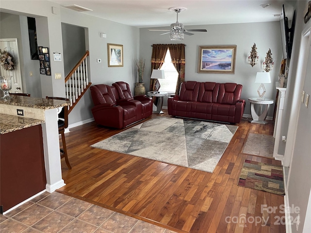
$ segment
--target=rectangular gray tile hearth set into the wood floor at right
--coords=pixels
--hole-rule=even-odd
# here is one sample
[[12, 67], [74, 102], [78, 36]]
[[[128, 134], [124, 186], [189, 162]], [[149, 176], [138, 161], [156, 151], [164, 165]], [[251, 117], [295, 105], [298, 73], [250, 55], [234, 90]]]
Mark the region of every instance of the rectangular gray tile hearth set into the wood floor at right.
[[249, 133], [242, 153], [272, 158], [274, 141], [273, 135]]

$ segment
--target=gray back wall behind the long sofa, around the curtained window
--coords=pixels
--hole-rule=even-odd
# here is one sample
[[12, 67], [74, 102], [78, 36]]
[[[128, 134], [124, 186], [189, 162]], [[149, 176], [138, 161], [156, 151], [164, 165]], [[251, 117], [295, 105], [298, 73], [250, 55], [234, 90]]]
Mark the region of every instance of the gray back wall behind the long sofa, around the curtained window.
[[[240, 24], [217, 24], [217, 25], [197, 25], [185, 26], [186, 29], [207, 29], [207, 33], [195, 33], [185, 35], [182, 41], [171, 41], [169, 35], [159, 35], [161, 32], [148, 31], [141, 28], [140, 34], [140, 56], [146, 59], [146, 69], [144, 72], [144, 83], [149, 90], [151, 75], [151, 54], [152, 44], [186, 44], [185, 56], [185, 80], [198, 82], [217, 82], [217, 83], [239, 83], [243, 85], [242, 99], [246, 100], [244, 114], [250, 114], [249, 97], [257, 97], [257, 89], [260, 83], [254, 83], [256, 73], [262, 71], [261, 64], [265, 59], [266, 53], [271, 49], [272, 57], [275, 60], [275, 67], [271, 71], [272, 83], [265, 83], [266, 98], [276, 99], [275, 82], [278, 80], [278, 72], [282, 60], [281, 36], [279, 22], [264, 23], [240, 23]], [[167, 28], [155, 28], [167, 29]], [[259, 62], [252, 67], [246, 62], [247, 53], [251, 51], [256, 43], [259, 53]], [[236, 65], [234, 74], [206, 74], [198, 73], [198, 53], [199, 46], [213, 45], [236, 45]], [[167, 102], [163, 103], [167, 106]], [[274, 105], [271, 106], [268, 116], [273, 116]]]

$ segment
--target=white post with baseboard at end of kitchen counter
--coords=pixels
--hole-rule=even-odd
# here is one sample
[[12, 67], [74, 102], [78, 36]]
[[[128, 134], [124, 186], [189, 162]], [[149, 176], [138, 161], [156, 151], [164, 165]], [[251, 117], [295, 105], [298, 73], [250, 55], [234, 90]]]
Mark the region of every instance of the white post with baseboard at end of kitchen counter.
[[62, 179], [60, 163], [57, 108], [45, 110], [44, 115], [45, 123], [42, 124], [42, 136], [47, 178], [46, 191], [52, 193], [66, 184]]

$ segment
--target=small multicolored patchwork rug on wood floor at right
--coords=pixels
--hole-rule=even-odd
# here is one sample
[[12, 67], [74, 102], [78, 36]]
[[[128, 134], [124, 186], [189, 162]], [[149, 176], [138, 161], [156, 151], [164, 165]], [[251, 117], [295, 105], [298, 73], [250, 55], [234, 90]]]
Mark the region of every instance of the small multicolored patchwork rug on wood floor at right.
[[238, 185], [284, 195], [283, 167], [245, 160]]

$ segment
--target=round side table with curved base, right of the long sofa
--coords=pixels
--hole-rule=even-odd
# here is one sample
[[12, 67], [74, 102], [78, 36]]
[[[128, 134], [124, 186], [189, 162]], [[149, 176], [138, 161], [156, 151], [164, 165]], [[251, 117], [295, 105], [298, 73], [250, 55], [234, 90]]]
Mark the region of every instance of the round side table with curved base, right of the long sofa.
[[[272, 99], [266, 99], [263, 98], [263, 100], [257, 99], [256, 97], [248, 98], [248, 101], [251, 103], [251, 115], [253, 120], [250, 120], [251, 123], [257, 123], [257, 124], [268, 124], [267, 121], [265, 121], [270, 104], [274, 103], [274, 100]], [[255, 104], [259, 104], [259, 113], [256, 113], [255, 110]], [[263, 108], [263, 109], [262, 109]]]

